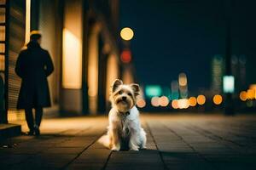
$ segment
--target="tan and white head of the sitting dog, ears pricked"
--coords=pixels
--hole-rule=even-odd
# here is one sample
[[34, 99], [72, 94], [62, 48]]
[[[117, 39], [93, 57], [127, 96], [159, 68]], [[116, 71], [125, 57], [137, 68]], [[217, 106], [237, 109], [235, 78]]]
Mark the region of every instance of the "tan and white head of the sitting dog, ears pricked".
[[116, 79], [111, 87], [110, 100], [119, 112], [126, 112], [136, 105], [137, 95], [139, 95], [138, 84], [123, 84], [121, 80]]

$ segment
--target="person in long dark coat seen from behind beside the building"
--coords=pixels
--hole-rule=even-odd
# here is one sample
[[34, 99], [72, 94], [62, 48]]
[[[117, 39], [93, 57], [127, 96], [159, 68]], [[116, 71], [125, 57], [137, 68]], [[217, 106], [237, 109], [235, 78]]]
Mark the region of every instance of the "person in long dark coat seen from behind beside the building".
[[[43, 108], [50, 106], [47, 77], [54, 71], [49, 52], [41, 48], [41, 33], [32, 31], [26, 49], [20, 51], [15, 72], [21, 78], [17, 109], [25, 109], [28, 135], [39, 135]], [[32, 114], [35, 109], [35, 120]]]

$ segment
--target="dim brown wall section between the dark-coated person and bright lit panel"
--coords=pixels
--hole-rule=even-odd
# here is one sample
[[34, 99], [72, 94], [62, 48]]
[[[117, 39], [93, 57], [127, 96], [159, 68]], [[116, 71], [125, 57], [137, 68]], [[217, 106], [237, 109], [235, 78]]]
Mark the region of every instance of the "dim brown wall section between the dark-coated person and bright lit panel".
[[41, 31], [42, 48], [49, 51], [55, 65], [55, 71], [49, 76], [49, 91], [52, 107], [46, 112], [59, 111], [61, 92], [61, 31], [62, 31], [61, 3], [58, 0], [40, 1], [38, 14], [38, 30]]

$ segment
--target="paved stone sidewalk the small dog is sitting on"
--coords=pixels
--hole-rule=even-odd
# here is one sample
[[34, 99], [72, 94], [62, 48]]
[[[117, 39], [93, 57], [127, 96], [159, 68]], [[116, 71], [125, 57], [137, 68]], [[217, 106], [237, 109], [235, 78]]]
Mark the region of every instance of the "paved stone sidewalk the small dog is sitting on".
[[155, 114], [142, 120], [148, 149], [119, 152], [96, 142], [107, 117], [44, 120], [42, 136], [1, 142], [1, 169], [256, 169], [256, 115]]

